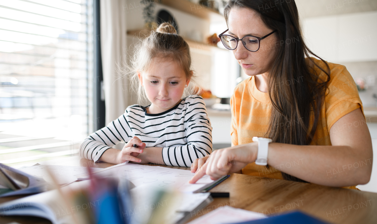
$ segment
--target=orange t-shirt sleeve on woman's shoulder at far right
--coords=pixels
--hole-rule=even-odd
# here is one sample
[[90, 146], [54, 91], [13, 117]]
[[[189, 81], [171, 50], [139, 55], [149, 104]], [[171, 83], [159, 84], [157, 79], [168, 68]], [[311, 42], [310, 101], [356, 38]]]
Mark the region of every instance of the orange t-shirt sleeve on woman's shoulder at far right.
[[328, 130], [336, 121], [353, 110], [361, 108], [364, 114], [356, 83], [346, 67], [338, 65], [332, 68], [330, 77], [325, 96]]

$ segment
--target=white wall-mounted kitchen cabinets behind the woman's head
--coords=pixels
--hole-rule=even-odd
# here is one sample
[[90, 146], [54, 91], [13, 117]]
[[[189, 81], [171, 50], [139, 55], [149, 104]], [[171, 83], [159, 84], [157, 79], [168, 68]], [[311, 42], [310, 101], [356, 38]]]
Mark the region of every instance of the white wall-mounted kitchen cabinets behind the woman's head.
[[377, 60], [377, 12], [303, 20], [308, 47], [330, 62]]

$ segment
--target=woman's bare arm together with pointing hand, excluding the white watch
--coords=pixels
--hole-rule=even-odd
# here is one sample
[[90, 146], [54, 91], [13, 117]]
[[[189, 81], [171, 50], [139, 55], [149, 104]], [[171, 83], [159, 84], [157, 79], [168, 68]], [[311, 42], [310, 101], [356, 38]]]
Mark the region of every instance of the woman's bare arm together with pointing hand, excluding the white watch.
[[[360, 109], [340, 118], [330, 129], [331, 146], [271, 143], [268, 165], [284, 173], [325, 186], [353, 186], [369, 182], [372, 142]], [[216, 156], [215, 156], [216, 155]], [[257, 156], [257, 143], [216, 150], [191, 182], [204, 174], [217, 179], [235, 172]]]

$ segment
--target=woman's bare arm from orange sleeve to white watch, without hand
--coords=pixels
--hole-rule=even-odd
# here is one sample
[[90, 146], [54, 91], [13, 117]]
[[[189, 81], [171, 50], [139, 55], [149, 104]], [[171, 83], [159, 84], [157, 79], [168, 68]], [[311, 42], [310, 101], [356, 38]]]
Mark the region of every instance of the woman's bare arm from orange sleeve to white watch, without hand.
[[329, 134], [331, 146], [270, 144], [268, 164], [319, 185], [368, 183], [372, 172], [372, 140], [361, 109], [336, 121]]

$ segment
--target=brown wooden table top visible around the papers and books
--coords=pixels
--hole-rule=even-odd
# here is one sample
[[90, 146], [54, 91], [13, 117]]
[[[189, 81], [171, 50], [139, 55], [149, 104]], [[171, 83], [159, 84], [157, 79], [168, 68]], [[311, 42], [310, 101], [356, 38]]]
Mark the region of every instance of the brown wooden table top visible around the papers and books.
[[[78, 156], [41, 162], [49, 165], [91, 166], [106, 168], [111, 163], [93, 163]], [[164, 166], [164, 165], [161, 165]], [[186, 167], [164, 166], [189, 170]], [[230, 198], [215, 198], [205, 209], [192, 213], [192, 219], [221, 206], [232, 206], [265, 215], [300, 210], [329, 223], [377, 223], [377, 194], [358, 190], [325, 187], [310, 183], [231, 174], [230, 178], [211, 189], [230, 192]], [[3, 201], [1, 201], [3, 202]], [[39, 218], [1, 217], [0, 224], [50, 223]]]

